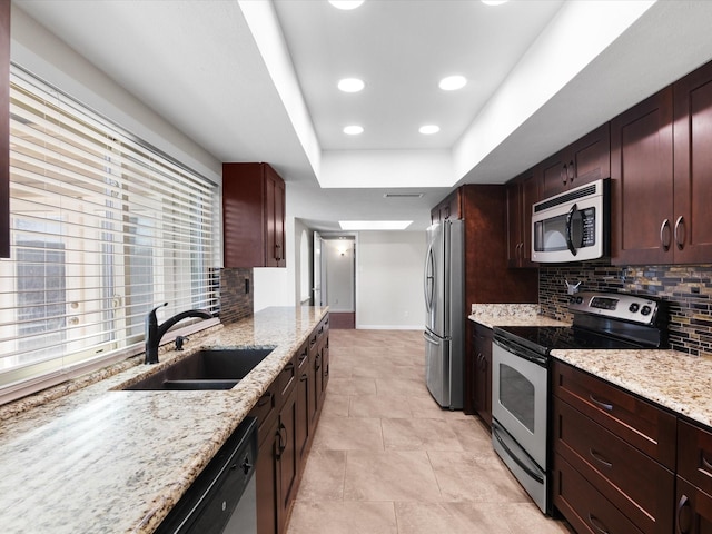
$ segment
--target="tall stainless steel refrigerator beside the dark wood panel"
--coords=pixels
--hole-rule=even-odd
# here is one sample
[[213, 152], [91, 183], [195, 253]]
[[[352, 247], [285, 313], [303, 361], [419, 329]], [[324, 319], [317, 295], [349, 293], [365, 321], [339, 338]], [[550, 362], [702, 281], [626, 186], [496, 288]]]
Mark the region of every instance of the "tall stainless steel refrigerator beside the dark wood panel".
[[464, 221], [427, 229], [425, 258], [425, 384], [444, 408], [463, 407]]

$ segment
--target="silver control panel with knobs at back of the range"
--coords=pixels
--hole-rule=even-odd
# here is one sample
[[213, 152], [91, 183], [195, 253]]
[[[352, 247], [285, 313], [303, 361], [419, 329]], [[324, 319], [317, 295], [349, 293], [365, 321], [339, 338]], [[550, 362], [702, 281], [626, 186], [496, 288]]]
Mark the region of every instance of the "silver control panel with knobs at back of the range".
[[656, 300], [623, 293], [578, 293], [572, 295], [568, 301], [568, 309], [573, 313], [630, 320], [641, 325], [652, 325], [659, 308], [660, 303]]

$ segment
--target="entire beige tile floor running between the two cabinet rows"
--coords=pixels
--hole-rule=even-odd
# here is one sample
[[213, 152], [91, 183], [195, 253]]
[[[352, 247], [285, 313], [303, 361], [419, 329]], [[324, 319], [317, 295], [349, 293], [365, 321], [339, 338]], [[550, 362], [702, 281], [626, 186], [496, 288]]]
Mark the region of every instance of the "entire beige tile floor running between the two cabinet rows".
[[288, 534], [568, 534], [492, 451], [476, 417], [425, 388], [413, 330], [339, 330]]

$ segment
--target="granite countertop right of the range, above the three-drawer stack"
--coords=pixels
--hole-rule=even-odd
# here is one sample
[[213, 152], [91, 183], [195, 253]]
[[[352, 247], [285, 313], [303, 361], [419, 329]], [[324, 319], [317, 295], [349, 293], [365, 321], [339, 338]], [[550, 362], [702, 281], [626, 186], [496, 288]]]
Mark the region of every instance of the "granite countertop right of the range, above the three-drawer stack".
[[712, 359], [678, 350], [552, 350], [552, 356], [712, 426]]

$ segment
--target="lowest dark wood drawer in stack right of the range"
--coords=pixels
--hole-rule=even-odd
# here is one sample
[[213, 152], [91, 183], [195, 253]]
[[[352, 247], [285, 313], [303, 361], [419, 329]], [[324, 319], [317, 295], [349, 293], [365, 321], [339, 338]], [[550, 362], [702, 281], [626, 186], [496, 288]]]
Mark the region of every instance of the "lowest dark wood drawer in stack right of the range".
[[554, 455], [554, 506], [578, 534], [643, 534], [568, 462]]

